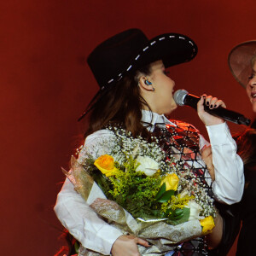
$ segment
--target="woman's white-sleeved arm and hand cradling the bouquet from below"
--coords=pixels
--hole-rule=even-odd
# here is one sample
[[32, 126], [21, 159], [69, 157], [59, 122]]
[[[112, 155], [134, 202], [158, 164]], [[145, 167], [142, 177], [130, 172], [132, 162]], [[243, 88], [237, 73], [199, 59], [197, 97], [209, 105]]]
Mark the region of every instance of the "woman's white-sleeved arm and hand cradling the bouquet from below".
[[[95, 134], [87, 137], [84, 143], [85, 147], [79, 154], [79, 162], [84, 160], [87, 148], [94, 158], [99, 155], [108, 154], [108, 145], [110, 143], [109, 131], [97, 131]], [[103, 143], [101, 148], [97, 147], [98, 141], [102, 142], [107, 139], [108, 143]], [[96, 187], [98, 188], [98, 187]], [[137, 244], [148, 247], [148, 242], [135, 236], [123, 235], [123, 233], [113, 228], [90, 208], [97, 197], [106, 198], [102, 194], [102, 190], [94, 190], [93, 195], [90, 194], [87, 202], [73, 189], [73, 184], [66, 179], [61, 192], [58, 195], [55, 205], [55, 213], [61, 224], [67, 228], [81, 244], [95, 252], [105, 255], [110, 253], [113, 256], [130, 256], [139, 255]], [[100, 190], [100, 191], [99, 191]], [[137, 254], [136, 254], [137, 253]]]

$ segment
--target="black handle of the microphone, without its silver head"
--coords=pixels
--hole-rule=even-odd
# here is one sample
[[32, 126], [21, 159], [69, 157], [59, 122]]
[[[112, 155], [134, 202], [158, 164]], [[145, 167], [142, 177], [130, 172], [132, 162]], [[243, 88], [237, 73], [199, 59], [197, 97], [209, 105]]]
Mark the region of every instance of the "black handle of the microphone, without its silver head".
[[[197, 102], [199, 102], [200, 97], [199, 96], [194, 96], [194, 95], [187, 95], [183, 102], [184, 105], [189, 105], [191, 108], [195, 108], [197, 110]], [[244, 115], [241, 113], [237, 113], [235, 111], [223, 108], [219, 106], [218, 108], [209, 108], [205, 103], [204, 103], [204, 110], [207, 113], [210, 113], [214, 116], [217, 116], [218, 118], [236, 123], [238, 125], [250, 125], [251, 120], [247, 119]]]

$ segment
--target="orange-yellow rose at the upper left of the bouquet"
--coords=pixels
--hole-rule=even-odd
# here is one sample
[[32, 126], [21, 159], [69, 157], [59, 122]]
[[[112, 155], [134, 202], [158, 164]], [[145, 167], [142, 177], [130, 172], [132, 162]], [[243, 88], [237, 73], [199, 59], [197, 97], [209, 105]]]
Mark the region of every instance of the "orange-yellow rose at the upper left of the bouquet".
[[113, 176], [117, 172], [117, 168], [113, 165], [113, 157], [108, 154], [103, 154], [97, 158], [94, 162], [94, 165], [107, 177]]

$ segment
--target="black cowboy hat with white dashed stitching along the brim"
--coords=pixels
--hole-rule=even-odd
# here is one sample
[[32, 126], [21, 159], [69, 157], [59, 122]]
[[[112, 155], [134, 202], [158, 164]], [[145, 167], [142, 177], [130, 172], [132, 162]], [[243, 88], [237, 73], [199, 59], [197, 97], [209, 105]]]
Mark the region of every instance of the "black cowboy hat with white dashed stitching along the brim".
[[162, 60], [171, 67], [192, 60], [197, 54], [195, 43], [177, 33], [166, 33], [151, 40], [137, 29], [129, 29], [108, 38], [94, 49], [87, 62], [101, 90], [129, 72]]

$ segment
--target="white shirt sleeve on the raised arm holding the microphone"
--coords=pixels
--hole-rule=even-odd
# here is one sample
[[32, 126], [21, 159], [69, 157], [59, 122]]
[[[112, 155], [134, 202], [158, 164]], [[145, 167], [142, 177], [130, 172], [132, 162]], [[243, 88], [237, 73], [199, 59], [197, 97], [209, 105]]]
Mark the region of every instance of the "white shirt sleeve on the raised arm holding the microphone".
[[[226, 123], [207, 126], [212, 146], [215, 181], [212, 190], [217, 201], [234, 204], [241, 201], [244, 188], [243, 163], [236, 154], [236, 142]], [[201, 139], [201, 146], [206, 141]]]

